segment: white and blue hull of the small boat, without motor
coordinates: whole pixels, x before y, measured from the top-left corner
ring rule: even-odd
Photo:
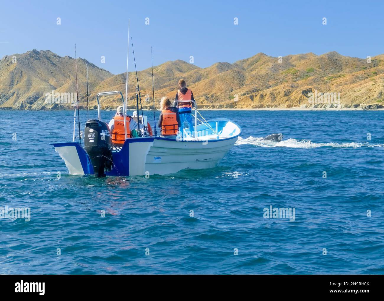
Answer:
[[[121,150],[113,151],[113,169],[108,176],[167,175],[183,169],[214,168],[241,134],[225,118],[197,126],[199,141],[177,141],[162,137],[129,138]],[[219,133],[216,135],[215,133]],[[93,174],[91,160],[79,142],[51,143],[71,175]]]

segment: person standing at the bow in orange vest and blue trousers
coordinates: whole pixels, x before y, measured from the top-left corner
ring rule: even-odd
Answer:
[[[177,100],[185,100],[185,102],[179,102],[177,103],[177,108],[179,108],[179,114],[180,114],[180,132],[183,133],[184,129],[184,121],[187,121],[189,126],[190,135],[192,136],[194,128],[192,123],[192,107],[194,104],[187,100],[193,100],[193,93],[191,89],[188,89],[187,84],[185,83],[185,80],[180,79],[179,80],[179,90],[177,90],[175,101]]]

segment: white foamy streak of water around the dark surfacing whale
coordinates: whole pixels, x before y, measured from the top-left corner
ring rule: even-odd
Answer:
[[[287,140],[282,141],[268,141],[268,140],[262,140],[263,137],[253,137],[249,136],[248,138],[243,139],[242,137],[238,137],[238,140],[236,141],[235,145],[243,145],[243,144],[251,144],[255,146],[260,147],[291,147],[291,148],[316,148],[316,147],[337,147],[337,148],[358,148],[361,146],[367,146],[367,147],[383,147],[384,144],[370,144],[368,142],[344,142],[344,143],[337,143],[337,142],[329,142],[329,143],[314,143],[311,140],[297,140],[294,138],[290,138]]]

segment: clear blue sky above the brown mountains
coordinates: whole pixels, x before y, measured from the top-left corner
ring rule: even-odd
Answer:
[[[0,7],[0,57],[32,49],[74,57],[76,42],[78,57],[114,74],[126,69],[128,18],[138,70],[151,66],[151,45],[154,65],[189,62],[193,55],[199,67],[258,52],[278,57],[334,50],[361,58],[384,53],[383,1],[0,0]]]

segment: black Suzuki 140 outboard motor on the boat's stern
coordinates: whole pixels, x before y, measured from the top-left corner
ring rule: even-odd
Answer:
[[[113,168],[112,136],[109,126],[100,120],[85,123],[84,148],[91,159],[94,176],[101,178]]]

